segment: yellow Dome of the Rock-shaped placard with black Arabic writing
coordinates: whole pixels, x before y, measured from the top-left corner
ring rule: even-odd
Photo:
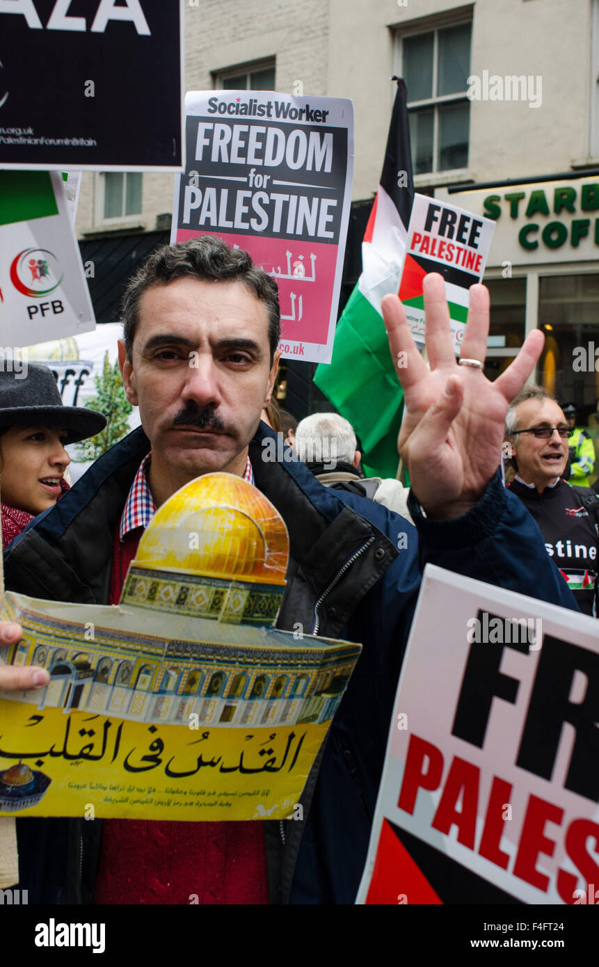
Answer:
[[[205,474],[150,521],[118,605],[8,591],[3,653],[49,681],[0,693],[0,816],[300,818],[361,646],[274,627],[287,561],[266,497]]]

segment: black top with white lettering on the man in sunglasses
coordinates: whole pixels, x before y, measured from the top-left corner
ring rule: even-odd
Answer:
[[[584,506],[583,488],[558,480],[539,493],[534,484],[524,484],[519,477],[508,485],[539,525],[547,553],[568,582],[581,611],[596,614],[599,540],[595,514],[591,510],[589,517]]]

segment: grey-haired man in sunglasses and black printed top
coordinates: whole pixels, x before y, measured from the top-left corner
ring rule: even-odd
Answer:
[[[517,475],[508,484],[534,517],[554,559],[584,614],[597,615],[597,510],[587,487],[562,479],[572,434],[560,406],[540,386],[528,386],[513,400],[506,417],[506,453]],[[585,492],[586,491],[586,492]]]

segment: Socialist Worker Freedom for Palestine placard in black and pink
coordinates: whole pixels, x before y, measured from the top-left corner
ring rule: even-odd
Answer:
[[[329,363],[353,174],[353,109],[258,91],[186,97],[171,242],[205,233],[277,280],[284,357]]]

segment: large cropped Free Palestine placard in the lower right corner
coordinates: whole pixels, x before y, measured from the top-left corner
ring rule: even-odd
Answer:
[[[427,566],[358,902],[586,903],[598,696],[595,619]]]

